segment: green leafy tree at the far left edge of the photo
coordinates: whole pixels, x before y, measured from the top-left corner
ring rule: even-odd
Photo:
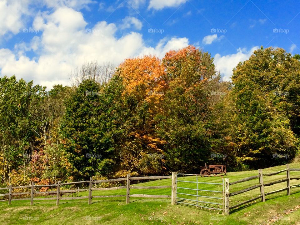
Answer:
[[[45,87],[23,79],[17,81],[15,76],[0,78],[0,148],[2,181],[10,182],[11,172],[23,164],[23,154],[30,148],[34,134],[30,131],[29,107],[36,93],[43,92]],[[7,180],[8,178],[8,180]],[[25,171],[24,171],[25,179]]]

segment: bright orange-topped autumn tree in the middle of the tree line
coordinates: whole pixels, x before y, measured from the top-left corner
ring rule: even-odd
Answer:
[[[123,78],[123,98],[132,110],[121,166],[128,172],[136,169],[143,174],[159,173],[164,168],[163,152],[159,147],[163,141],[153,136],[153,118],[161,111],[160,102],[166,88],[165,68],[159,58],[144,56],[126,59],[117,73]]]

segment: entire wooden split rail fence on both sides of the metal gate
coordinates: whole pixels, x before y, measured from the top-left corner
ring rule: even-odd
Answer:
[[[229,212],[231,209],[237,208],[239,206],[242,206],[244,204],[247,204],[249,202],[253,202],[257,199],[261,199],[262,202],[266,201],[265,196],[274,194],[277,192],[282,192],[282,191],[287,191],[287,195],[291,195],[291,188],[294,187],[300,187],[300,184],[297,185],[291,185],[290,181],[291,180],[300,180],[300,178],[291,178],[290,177],[290,172],[291,171],[300,171],[300,169],[296,168],[289,168],[289,165],[287,165],[286,169],[280,170],[278,172],[274,173],[263,173],[262,169],[258,169],[258,175],[243,178],[238,181],[234,182],[229,182],[229,178],[225,178],[225,182],[223,185],[223,198],[224,198],[224,207],[223,211],[226,215],[229,215]],[[286,172],[286,178],[276,180],[273,182],[269,183],[264,183],[263,182],[263,177],[266,176],[273,176],[277,175],[280,173]],[[130,184],[131,181],[133,180],[151,180],[151,179],[170,179],[172,178],[172,183],[171,185],[167,186],[150,186],[150,187],[145,187],[145,186],[132,186]],[[258,178],[258,184],[253,185],[252,187],[247,187],[242,190],[238,190],[235,192],[230,192],[230,187],[232,185],[238,184],[238,183],[243,183],[246,181],[250,181],[253,179]],[[120,186],[120,187],[107,187],[107,188],[93,188],[93,184],[97,183],[108,183],[108,182],[119,182],[119,181],[126,181],[126,186]],[[275,191],[271,192],[265,192],[264,187],[272,186],[277,183],[283,183],[286,182],[286,187],[280,188]],[[60,187],[64,185],[79,185],[83,183],[88,183],[89,188],[86,189],[75,189],[75,190],[60,190]],[[197,182],[199,183],[199,182]],[[56,187],[56,191],[35,191],[36,187]],[[12,190],[18,189],[18,188],[31,188],[31,191],[29,192],[13,192]],[[157,189],[157,188],[171,188],[171,196],[169,195],[149,195],[149,194],[130,194],[130,189]],[[239,195],[254,189],[260,189],[259,195],[255,196],[247,201],[240,202],[236,205],[230,206],[229,200],[230,197]],[[118,189],[126,189],[126,195],[98,195],[98,196],[93,196],[92,193],[93,191],[106,191],[106,190],[118,190]],[[1,200],[1,201],[8,201],[8,204],[11,204],[11,201],[17,201],[17,200],[30,200],[30,205],[33,205],[34,200],[56,200],[56,205],[59,205],[60,200],[73,200],[73,199],[86,199],[88,198],[88,204],[92,204],[92,199],[93,198],[103,198],[103,197],[126,197],[126,203],[128,204],[130,202],[130,197],[147,197],[147,198],[171,198],[171,204],[175,205],[177,204],[177,172],[173,172],[172,176],[152,176],[152,177],[130,177],[130,174],[127,175],[127,178],[117,178],[117,179],[109,179],[109,180],[93,180],[90,178],[89,181],[78,181],[78,182],[71,182],[71,183],[61,183],[58,181],[57,184],[48,184],[48,185],[35,185],[33,182],[31,185],[28,186],[18,186],[18,187],[13,187],[12,185],[9,185],[9,187],[1,187],[0,190],[9,190],[8,193],[0,194],[0,196],[8,196],[8,199],[6,200]],[[64,194],[70,194],[74,192],[84,192],[88,191],[88,196],[80,196],[80,197],[62,197]],[[197,190],[198,191],[198,190]],[[47,194],[47,195],[54,195],[56,197],[49,197],[49,198],[41,198],[41,197],[35,197],[35,194]],[[16,195],[30,195],[30,198],[13,198],[13,196]]]

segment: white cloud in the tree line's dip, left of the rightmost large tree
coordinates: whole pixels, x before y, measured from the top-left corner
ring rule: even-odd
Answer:
[[[225,56],[221,56],[217,53],[214,56],[216,70],[220,71],[224,80],[230,80],[232,69],[236,67],[239,62],[247,60],[257,48],[258,46],[252,47],[249,51],[239,48],[237,53]]]

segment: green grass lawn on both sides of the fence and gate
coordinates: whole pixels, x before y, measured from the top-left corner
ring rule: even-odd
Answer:
[[[300,163],[293,163],[291,168],[300,168]],[[282,170],[286,166],[278,166],[263,169],[263,173],[271,173]],[[230,182],[257,175],[257,171],[245,171],[227,173],[224,178]],[[300,172],[291,172],[291,177],[300,177]],[[286,178],[286,172],[263,177],[264,183]],[[178,180],[195,181],[196,177],[180,177]],[[198,177],[199,182],[222,183],[220,177]],[[300,181],[292,180],[291,185]],[[230,186],[230,192],[241,190],[258,184],[258,178],[240,184]],[[171,179],[151,181],[135,184],[136,186],[160,186],[171,185]],[[195,183],[178,182],[178,187],[196,188]],[[286,187],[286,183],[279,183],[265,187],[265,192]],[[198,184],[198,189],[222,191],[222,186]],[[179,189],[178,189],[179,191]],[[182,193],[195,194],[196,191],[180,189]],[[171,195],[171,188],[165,189],[131,189],[131,194],[155,194]],[[222,211],[201,209],[199,207],[183,204],[171,205],[171,199],[149,199],[131,197],[130,204],[126,204],[125,197],[117,198],[93,198],[93,204],[88,205],[88,199],[81,200],[44,200],[0,202],[0,224],[299,224],[300,225],[300,188],[292,188],[291,196],[286,191],[266,196],[266,202],[248,203],[230,211],[229,216],[222,215]],[[126,194],[126,189],[112,191],[93,191],[93,195],[121,195]],[[199,195],[222,197],[221,193],[198,192]],[[79,196],[88,195],[88,192],[79,192]],[[230,198],[230,205],[243,202],[255,196],[259,196],[259,188],[245,192]],[[178,195],[183,197],[185,195]],[[65,197],[65,196],[64,196]],[[183,197],[186,198],[186,197]],[[195,197],[189,196],[189,199]],[[198,198],[200,201],[222,203],[219,199]],[[188,202],[188,201],[185,201]],[[199,203],[200,204],[200,203]],[[207,207],[220,207],[209,203],[201,203]]]

